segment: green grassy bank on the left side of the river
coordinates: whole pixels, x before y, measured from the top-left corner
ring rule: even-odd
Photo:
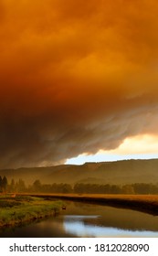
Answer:
[[[42,197],[0,196],[0,227],[20,225],[56,215],[61,205],[61,201]]]

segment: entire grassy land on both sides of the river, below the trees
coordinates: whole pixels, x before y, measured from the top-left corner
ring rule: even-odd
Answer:
[[[158,215],[156,195],[98,195],[98,194],[6,194],[0,195],[0,228],[19,226],[32,221],[56,216],[67,200],[129,208]]]

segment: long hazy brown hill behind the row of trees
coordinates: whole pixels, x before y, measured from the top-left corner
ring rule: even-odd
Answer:
[[[5,169],[0,170],[0,176],[7,176],[9,181],[22,178],[26,184],[32,184],[36,179],[43,184],[158,184],[158,159]]]

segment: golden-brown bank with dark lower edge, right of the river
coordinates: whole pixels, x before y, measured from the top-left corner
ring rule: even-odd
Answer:
[[[117,208],[131,208],[154,216],[158,215],[158,195],[29,194],[29,196],[73,200]]]

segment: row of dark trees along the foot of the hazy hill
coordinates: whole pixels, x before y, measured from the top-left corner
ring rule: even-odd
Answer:
[[[0,176],[0,191],[8,193],[77,193],[77,194],[158,194],[158,185],[146,183],[134,183],[131,185],[99,185],[77,183],[73,187],[69,184],[42,184],[36,180],[32,185],[26,186],[25,181],[19,179],[15,182],[11,180],[10,184],[6,177]]]

